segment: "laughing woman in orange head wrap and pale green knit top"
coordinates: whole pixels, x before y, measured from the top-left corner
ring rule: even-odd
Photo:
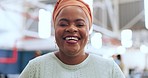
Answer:
[[[92,14],[82,0],[59,0],[53,25],[59,51],[31,60],[19,78],[124,78],[112,60],[84,52]]]

